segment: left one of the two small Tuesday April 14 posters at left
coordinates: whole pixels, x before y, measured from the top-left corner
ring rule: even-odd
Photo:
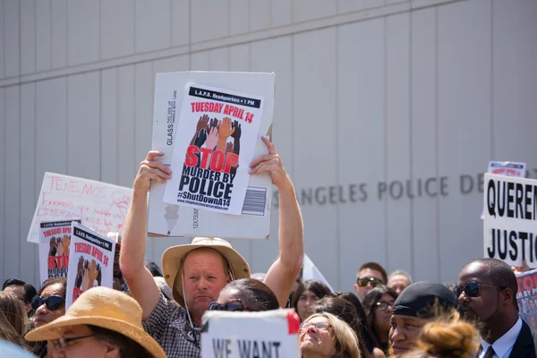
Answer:
[[[52,277],[67,277],[71,222],[81,220],[41,221],[39,224],[39,273],[41,282]]]

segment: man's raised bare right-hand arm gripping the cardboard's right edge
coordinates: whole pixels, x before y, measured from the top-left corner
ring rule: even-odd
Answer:
[[[279,191],[279,257],[268,269],[265,284],[274,291],[281,307],[287,299],[303,263],[303,220],[293,182],[286,174],[274,145],[266,138],[268,155],[251,163],[251,174],[269,173]]]

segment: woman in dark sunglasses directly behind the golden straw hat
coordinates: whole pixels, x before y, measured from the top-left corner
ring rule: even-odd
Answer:
[[[57,320],[65,314],[66,288],[65,277],[49,278],[43,283],[38,295],[31,300],[31,308],[36,312],[33,322],[35,328]],[[39,358],[51,357],[52,353],[47,354],[47,348],[47,341],[38,341],[32,347],[32,352]]]

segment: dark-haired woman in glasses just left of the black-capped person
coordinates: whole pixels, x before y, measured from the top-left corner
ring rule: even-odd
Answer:
[[[390,319],[396,299],[396,291],[381,285],[373,288],[362,301],[371,333],[384,354],[388,354]]]

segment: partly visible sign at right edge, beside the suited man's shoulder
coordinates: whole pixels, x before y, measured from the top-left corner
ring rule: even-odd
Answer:
[[[537,269],[516,275],[516,303],[520,317],[537,328]]]

